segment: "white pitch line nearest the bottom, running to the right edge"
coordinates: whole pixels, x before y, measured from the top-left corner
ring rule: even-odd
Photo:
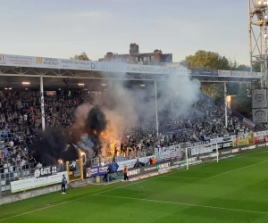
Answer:
[[[200,208],[207,208],[207,209],[225,210],[225,211],[240,211],[240,212],[257,213],[257,214],[268,214],[268,212],[263,212],[263,211],[248,211],[248,210],[242,210],[242,209],[230,209],[230,208],[214,207],[214,206],[200,205],[200,204],[186,203],[186,202],[166,202],[166,201],[153,200],[153,199],[134,198],[134,197],[125,197],[125,196],[113,196],[113,195],[97,195],[97,196],[113,197],[113,198],[121,198],[121,199],[131,199],[131,200],[143,201],[143,202],[163,202],[163,203],[171,203],[171,204],[193,206],[193,207],[200,207]]]

